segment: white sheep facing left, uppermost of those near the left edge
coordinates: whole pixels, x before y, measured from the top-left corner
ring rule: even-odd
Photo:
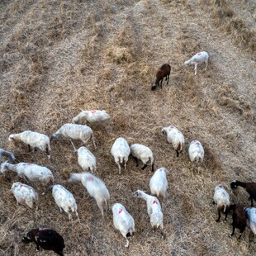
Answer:
[[[9,140],[21,140],[28,145],[28,149],[40,149],[45,151],[50,159],[50,138],[36,131],[25,130],[21,133],[9,135]]]

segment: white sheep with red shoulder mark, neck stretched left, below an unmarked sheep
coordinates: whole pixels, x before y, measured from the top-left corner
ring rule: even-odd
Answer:
[[[140,197],[147,202],[147,210],[152,228],[155,230],[160,227],[163,230],[163,212],[157,197],[150,196],[141,190],[133,192],[132,197]]]

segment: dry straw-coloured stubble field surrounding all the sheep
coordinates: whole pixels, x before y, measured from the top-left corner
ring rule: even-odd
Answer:
[[[40,195],[39,210],[17,206],[12,183],[26,181],[14,173],[0,178],[0,254],[36,253],[21,237],[35,227],[50,227],[64,236],[64,255],[254,255],[256,238],[246,228],[233,239],[231,215],[216,224],[214,187],[221,183],[231,202],[249,206],[243,188],[230,190],[234,179],[256,181],[256,4],[253,0],[3,0],[1,7],[0,147],[18,162],[45,165],[55,183],[73,192],[81,224],[69,222],[51,195]],[[193,76],[184,61],[206,50],[210,64]],[[150,91],[156,70],[170,62],[170,83]],[[123,203],[135,218],[135,236],[125,239],[104,224],[95,201],[81,183],[68,183],[81,172],[69,140],[51,142],[52,159],[7,137],[23,130],[52,135],[81,110],[105,109],[111,129],[92,127],[97,149],[97,176],[111,193],[111,204]],[[186,148],[179,158],[163,126],[183,132]],[[130,159],[118,175],[111,145],[123,136],[148,145],[156,168],[168,168],[164,234],[153,232],[145,201],[131,192],[149,192],[149,168]],[[187,148],[198,139],[206,150],[201,168],[190,164]],[[82,143],[75,141],[77,147]]]

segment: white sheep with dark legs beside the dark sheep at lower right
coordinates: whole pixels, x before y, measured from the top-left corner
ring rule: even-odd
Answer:
[[[215,187],[213,203],[216,203],[217,211],[218,211],[218,219],[216,220],[216,222],[220,221],[220,211],[223,211],[225,213],[225,221],[226,221],[226,218],[228,216],[228,211],[230,210],[230,196],[228,192],[225,191],[224,186],[217,185]]]

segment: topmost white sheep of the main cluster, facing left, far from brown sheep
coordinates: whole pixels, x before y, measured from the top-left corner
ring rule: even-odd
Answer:
[[[110,116],[105,110],[81,111],[78,116],[73,117],[74,124],[88,121],[91,125],[106,126]]]

